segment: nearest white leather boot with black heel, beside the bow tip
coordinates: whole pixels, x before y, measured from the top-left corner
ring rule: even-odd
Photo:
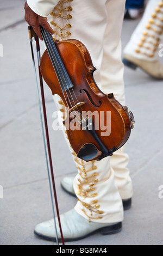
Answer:
[[[74,209],[60,215],[62,233],[64,241],[76,241],[86,236],[92,235],[99,230],[103,235],[111,235],[121,231],[122,222],[118,223],[97,223],[89,222],[80,216]],[[61,242],[61,234],[59,229],[58,218],[56,218],[58,241]],[[54,220],[42,222],[36,225],[34,230],[36,235],[40,237],[56,241],[56,233],[54,228]]]

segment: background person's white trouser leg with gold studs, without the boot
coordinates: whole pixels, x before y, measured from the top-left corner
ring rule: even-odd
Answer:
[[[124,54],[148,61],[158,60],[162,32],[163,0],[149,0],[139,25],[124,48]]]

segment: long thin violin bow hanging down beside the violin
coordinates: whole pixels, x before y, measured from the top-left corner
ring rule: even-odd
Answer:
[[[59,223],[59,229],[60,229],[60,234],[61,234],[62,245],[65,245],[64,237],[63,237],[62,229],[61,229],[61,222],[60,222],[60,215],[59,215],[57,193],[56,193],[55,181],[54,181],[51,145],[50,145],[50,142],[49,142],[49,132],[48,132],[48,124],[47,124],[46,105],[45,105],[45,95],[44,95],[44,90],[43,90],[43,79],[42,79],[42,75],[41,75],[41,71],[40,71],[40,59],[41,59],[41,57],[40,57],[39,38],[35,34],[35,32],[34,32],[34,30],[33,30],[33,28],[31,26],[28,27],[28,32],[29,32],[30,48],[31,48],[32,60],[33,60],[33,68],[34,68],[34,74],[35,74],[35,82],[36,82],[36,87],[37,87],[37,98],[38,98],[38,104],[39,104],[41,129],[42,129],[43,145],[44,145],[44,149],[45,149],[45,157],[46,157],[46,164],[47,164],[49,188],[50,188],[50,192],[51,192],[52,209],[53,209],[53,217],[54,217],[54,225],[55,225],[55,233],[56,233],[56,242],[57,242],[57,245],[59,245],[57,225],[56,225],[56,221],[55,221],[54,202],[55,202],[55,208],[56,208],[56,211],[57,211],[57,217],[58,217],[58,223]],[[37,82],[35,58],[34,58],[34,51],[33,51],[33,38],[36,41],[36,51],[37,51],[37,62],[38,62],[38,68],[39,68],[39,79],[40,79],[40,90],[41,90],[41,99],[42,99],[43,118],[42,118],[41,103],[40,103],[40,93],[39,93],[39,86],[38,86],[38,82]],[[43,119],[44,119],[44,126],[45,126],[45,128],[43,126]],[[45,131],[44,131],[44,129],[45,129]],[[45,132],[46,132],[46,136],[45,136]],[[48,153],[47,153],[47,149],[46,148],[48,149]],[[49,159],[49,164],[48,164],[48,159]],[[50,172],[49,172],[49,166],[50,166],[50,169],[51,169],[51,175],[50,175]],[[52,179],[52,185],[53,185],[53,192],[52,192],[52,186],[51,186],[51,179]],[[54,196],[54,202],[53,202],[53,196]]]

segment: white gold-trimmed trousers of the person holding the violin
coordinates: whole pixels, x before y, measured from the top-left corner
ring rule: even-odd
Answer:
[[[121,61],[124,8],[124,0],[65,0],[60,1],[48,16],[48,21],[55,31],[55,38],[74,38],[83,42],[97,69],[94,77],[98,87],[104,93],[114,93],[122,105],[125,105]],[[71,15],[72,19],[68,19],[70,16],[67,15]],[[59,16],[62,16],[62,19]],[[61,123],[64,118],[64,105],[57,95],[54,100],[58,109],[62,109],[59,111]],[[66,137],[65,132],[64,134]],[[68,141],[67,143],[70,145]],[[122,221],[122,199],[133,196],[127,168],[128,155],[124,154],[124,147],[112,157],[88,163],[78,159],[71,147],[70,150],[78,169],[74,180],[74,191],[78,197],[75,210],[89,221]]]

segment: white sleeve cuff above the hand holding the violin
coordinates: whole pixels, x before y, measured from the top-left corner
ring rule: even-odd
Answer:
[[[27,0],[30,9],[42,17],[47,17],[58,2],[59,0]]]

